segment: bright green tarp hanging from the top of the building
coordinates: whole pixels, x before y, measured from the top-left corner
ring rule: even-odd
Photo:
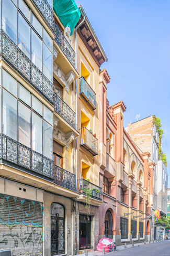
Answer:
[[[61,20],[64,27],[69,26],[71,34],[81,17],[81,12],[78,9],[74,0],[53,0],[53,9],[56,15]]]

